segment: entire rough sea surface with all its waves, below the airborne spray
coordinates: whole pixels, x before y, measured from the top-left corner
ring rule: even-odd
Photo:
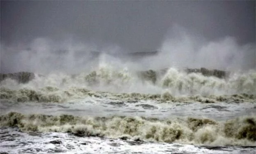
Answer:
[[[1,74],[0,154],[255,154],[256,71]]]

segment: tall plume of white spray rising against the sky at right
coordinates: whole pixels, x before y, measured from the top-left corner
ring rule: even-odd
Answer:
[[[164,53],[164,61],[169,60],[178,67],[231,71],[255,68],[255,44],[238,45],[236,39],[229,36],[209,42],[178,25],[171,29],[160,51]]]

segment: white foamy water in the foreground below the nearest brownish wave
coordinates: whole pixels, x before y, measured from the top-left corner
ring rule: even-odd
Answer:
[[[77,137],[66,133],[28,134],[0,129],[0,152],[9,154],[254,154],[253,146],[194,146],[170,143]]]

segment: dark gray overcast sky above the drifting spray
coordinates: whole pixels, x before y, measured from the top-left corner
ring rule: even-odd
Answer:
[[[37,37],[115,43],[134,50],[159,47],[172,24],[214,40],[255,42],[255,1],[4,1],[1,42]]]

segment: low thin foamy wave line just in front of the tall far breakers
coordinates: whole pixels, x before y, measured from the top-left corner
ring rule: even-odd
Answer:
[[[169,92],[163,94],[141,94],[141,93],[111,93],[95,92],[88,89],[71,87],[69,89],[58,89],[56,87],[44,87],[42,89],[0,89],[0,99],[14,102],[65,102],[72,99],[85,97],[108,98],[113,100],[155,100],[159,102],[255,102],[256,95],[253,94],[233,94],[233,95],[210,95],[210,96],[172,96]]]

